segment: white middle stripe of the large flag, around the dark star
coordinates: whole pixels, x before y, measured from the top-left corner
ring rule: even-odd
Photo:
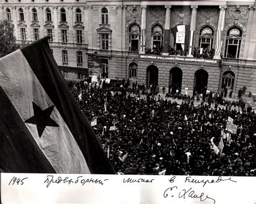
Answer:
[[[34,115],[32,102],[42,110],[54,105],[20,50],[6,56],[1,62],[1,66],[8,67],[8,70],[1,69],[0,86],[23,121]],[[90,173],[75,138],[56,107],[50,117],[59,127],[46,126],[41,138],[35,124],[25,123],[45,157],[57,173]]]

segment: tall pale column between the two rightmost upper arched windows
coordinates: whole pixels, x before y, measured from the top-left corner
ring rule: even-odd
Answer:
[[[215,55],[213,59],[220,59],[221,48],[223,46],[222,34],[224,30],[226,6],[219,6],[219,8],[220,8],[220,15],[219,15],[218,31],[217,31],[217,38],[216,38],[216,45],[215,45]]]

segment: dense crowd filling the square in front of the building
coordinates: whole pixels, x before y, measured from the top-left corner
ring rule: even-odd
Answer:
[[[92,128],[118,174],[256,173],[254,110],[243,105],[239,111],[243,102],[225,101],[214,93],[201,98],[167,90],[160,97],[125,79],[69,87],[89,121],[97,117]],[[237,125],[236,133],[226,129],[228,116]],[[221,140],[223,149],[217,153]]]

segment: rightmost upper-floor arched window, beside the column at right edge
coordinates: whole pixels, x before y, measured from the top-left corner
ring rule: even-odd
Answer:
[[[239,58],[242,31],[239,27],[232,27],[227,31],[225,57]]]

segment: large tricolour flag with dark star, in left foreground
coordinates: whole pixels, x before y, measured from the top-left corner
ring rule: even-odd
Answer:
[[[45,37],[0,59],[0,166],[21,173],[115,173]]]

